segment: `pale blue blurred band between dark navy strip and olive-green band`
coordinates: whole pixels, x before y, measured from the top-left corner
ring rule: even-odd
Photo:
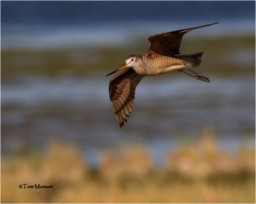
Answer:
[[[217,20],[217,19],[216,19]],[[215,22],[216,22],[215,20]],[[56,47],[93,47],[93,46],[116,46],[123,47],[136,42],[138,39],[145,39],[157,33],[163,33],[186,27],[193,27],[209,24],[213,21],[190,22],[180,24],[180,22],[132,22],[131,27],[113,22],[108,28],[99,25],[86,25],[86,27],[45,27],[22,26],[13,28],[6,26],[2,32],[2,47],[7,48],[56,48]],[[237,29],[237,24],[240,29]],[[198,36],[208,36],[208,38],[218,38],[223,36],[236,36],[244,33],[253,34],[255,22],[224,21],[216,25],[214,29],[202,29],[200,32],[191,33],[188,38]],[[135,32],[136,31],[136,32]],[[19,33],[19,34],[18,34]],[[146,38],[145,38],[146,36]]]

